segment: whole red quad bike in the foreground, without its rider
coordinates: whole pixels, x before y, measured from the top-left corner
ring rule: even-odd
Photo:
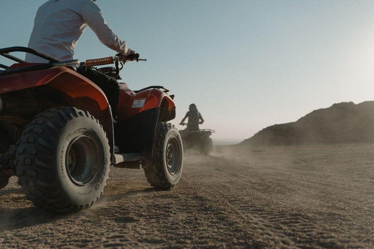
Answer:
[[[11,52],[50,62],[26,63]],[[143,168],[158,189],[178,183],[183,146],[177,129],[167,123],[175,118],[168,89],[132,91],[123,83],[113,125],[104,92],[70,67],[79,60],[59,61],[24,47],[0,49],[0,55],[18,62],[0,64],[0,153],[5,153],[0,155],[0,188],[9,175],[17,176],[35,206],[72,213],[91,207],[101,196],[110,165]],[[97,70],[119,78],[121,59],[117,54],[80,64],[114,63],[115,68]]]

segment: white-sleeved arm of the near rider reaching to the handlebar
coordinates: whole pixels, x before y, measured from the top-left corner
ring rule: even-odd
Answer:
[[[115,35],[108,26],[101,9],[96,3],[87,1],[82,10],[81,17],[105,46],[125,55],[131,53],[131,49],[127,46],[126,42]]]

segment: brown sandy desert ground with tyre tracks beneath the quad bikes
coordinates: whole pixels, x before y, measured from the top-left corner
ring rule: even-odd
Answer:
[[[37,210],[16,178],[0,191],[1,248],[373,248],[374,145],[187,151],[183,177],[154,191],[111,169],[93,208]]]

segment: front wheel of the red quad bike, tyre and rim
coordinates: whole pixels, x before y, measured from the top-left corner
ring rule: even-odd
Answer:
[[[156,189],[170,189],[179,182],[182,169],[181,135],[170,123],[157,124],[153,142],[153,162],[144,169],[148,182]]]

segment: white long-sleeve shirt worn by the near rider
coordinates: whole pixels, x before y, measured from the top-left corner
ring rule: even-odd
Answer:
[[[49,0],[39,7],[29,48],[59,60],[72,60],[80,36],[90,27],[108,48],[128,55],[126,42],[114,34],[93,0]],[[27,62],[48,62],[27,53]]]

